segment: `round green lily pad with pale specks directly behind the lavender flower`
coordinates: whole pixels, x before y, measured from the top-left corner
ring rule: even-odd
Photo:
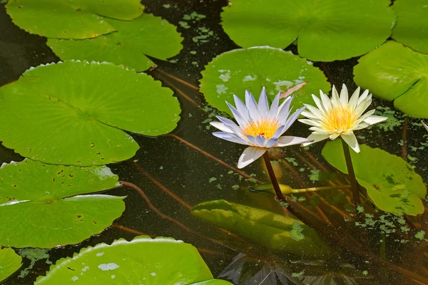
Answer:
[[[258,98],[262,86],[266,86],[267,97],[273,100],[278,91],[306,81],[305,86],[293,93],[294,108],[312,103],[311,94],[319,94],[320,89],[325,93],[330,90],[327,78],[312,63],[280,48],[268,46],[222,53],[205,66],[202,75],[200,92],[210,105],[230,115],[225,100],[233,103],[233,94],[244,100],[246,89]]]

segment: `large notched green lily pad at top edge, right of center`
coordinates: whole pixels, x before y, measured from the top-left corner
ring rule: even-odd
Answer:
[[[388,0],[231,0],[223,28],[239,46],[285,48],[297,38],[311,61],[360,56],[391,35],[395,16]],[[373,27],[376,28],[373,28]]]

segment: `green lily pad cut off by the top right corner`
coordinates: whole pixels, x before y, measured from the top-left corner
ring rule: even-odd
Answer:
[[[396,0],[392,6],[397,24],[392,38],[421,53],[428,53],[428,3],[425,0]]]

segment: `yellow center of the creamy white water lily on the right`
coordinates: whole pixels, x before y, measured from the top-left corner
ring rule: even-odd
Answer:
[[[332,133],[345,133],[354,127],[357,119],[350,105],[340,105],[333,107],[322,118],[322,128]]]

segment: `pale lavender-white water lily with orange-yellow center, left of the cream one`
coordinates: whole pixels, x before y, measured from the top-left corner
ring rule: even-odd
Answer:
[[[309,142],[307,138],[281,136],[295,122],[305,107],[300,108],[290,115],[290,103],[292,97],[279,105],[280,93],[275,96],[269,108],[266,90],[263,87],[259,102],[255,101],[253,94],[245,91],[245,104],[238,96],[233,95],[236,108],[228,104],[238,125],[232,120],[217,116],[220,122],[211,122],[213,127],[221,132],[215,132],[217,138],[236,142],[247,147],[238,160],[238,168],[243,168],[261,157],[269,147],[286,147]],[[278,106],[279,105],[279,106]],[[288,117],[290,115],[290,118]]]

